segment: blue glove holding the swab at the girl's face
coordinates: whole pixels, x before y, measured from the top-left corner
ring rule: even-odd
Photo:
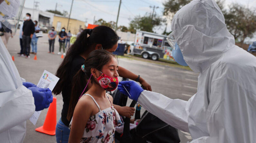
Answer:
[[[125,90],[125,88],[123,87],[123,85],[125,86],[126,90],[130,93],[130,95],[127,93],[127,91]],[[135,81],[122,81],[119,82],[118,84],[118,90],[120,92],[122,92],[123,94],[127,95],[130,99],[133,100],[138,100],[139,95],[142,91],[144,91],[144,89],[142,89],[138,83],[136,83]]]

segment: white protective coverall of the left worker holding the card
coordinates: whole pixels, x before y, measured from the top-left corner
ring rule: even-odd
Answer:
[[[22,85],[11,55],[0,37],[0,142],[22,143],[26,120],[35,111],[32,91]]]

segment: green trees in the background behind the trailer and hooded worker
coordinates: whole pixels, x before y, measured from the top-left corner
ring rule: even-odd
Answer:
[[[164,5],[163,18],[160,15],[146,13],[144,16],[136,16],[130,20],[129,26],[119,26],[118,30],[123,32],[130,31],[136,33],[136,30],[154,32],[153,28],[156,26],[166,26],[166,19],[172,19],[174,14],[181,9],[184,5],[188,4],[192,0],[167,0]],[[216,0],[221,11],[223,12],[226,26],[229,32],[234,36],[236,42],[243,43],[246,37],[252,37],[256,31],[256,9],[248,8],[244,5],[232,3],[228,6],[228,9],[224,9],[225,0]],[[106,22],[103,19],[96,20],[95,24],[105,25],[110,28],[115,28],[115,22]],[[162,33],[168,35],[171,31],[165,31]]]

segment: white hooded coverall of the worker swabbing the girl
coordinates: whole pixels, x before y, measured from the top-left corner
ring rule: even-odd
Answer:
[[[256,142],[256,58],[235,45],[214,0],[193,0],[172,20],[188,66],[199,72],[197,93],[188,101],[141,92],[138,102],[191,143]]]

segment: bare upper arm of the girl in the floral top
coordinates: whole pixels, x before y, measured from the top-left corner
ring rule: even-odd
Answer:
[[[80,143],[85,126],[92,114],[92,108],[94,107],[91,100],[82,97],[74,110],[71,131],[69,136],[69,143]],[[85,110],[86,109],[86,110]]]

